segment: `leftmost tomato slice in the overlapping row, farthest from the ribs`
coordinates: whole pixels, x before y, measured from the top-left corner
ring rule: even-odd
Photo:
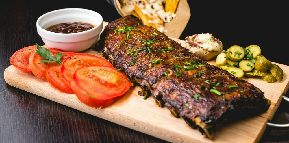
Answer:
[[[29,67],[29,56],[36,51],[36,46],[24,47],[16,51],[9,59],[10,64],[19,70],[32,73]]]

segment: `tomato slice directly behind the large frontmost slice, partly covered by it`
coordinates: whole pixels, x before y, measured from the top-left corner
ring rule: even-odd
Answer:
[[[59,78],[66,86],[71,87],[74,71],[78,68],[92,65],[113,67],[113,65],[103,57],[87,53],[76,53],[70,55],[62,62]]]

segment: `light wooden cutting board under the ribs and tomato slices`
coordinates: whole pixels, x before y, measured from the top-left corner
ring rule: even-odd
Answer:
[[[107,24],[104,22],[103,27]],[[172,39],[183,46],[183,40]],[[102,57],[101,51],[95,51],[91,48],[83,53]],[[207,62],[211,65],[215,64],[215,60]],[[39,79],[31,73],[20,71],[12,65],[5,69],[4,79],[6,83],[16,88],[169,142],[251,143],[259,142],[266,129],[266,122],[272,119],[281,102],[281,97],[288,91],[289,66],[272,63],[283,69],[283,81],[266,83],[258,77],[243,78],[260,88],[265,93],[264,96],[271,100],[269,110],[260,115],[217,128],[213,140],[201,135],[199,130],[189,127],[182,118],[175,118],[166,107],[161,108],[156,105],[152,97],[144,100],[142,96],[138,95],[139,86],[131,87],[124,96],[116,100],[111,106],[95,109],[81,103],[75,94],[60,92],[46,80]]]

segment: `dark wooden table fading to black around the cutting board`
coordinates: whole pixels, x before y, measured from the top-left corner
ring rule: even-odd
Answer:
[[[188,3],[191,18],[180,39],[208,32],[223,42],[225,50],[231,45],[246,47],[256,44],[270,61],[288,65],[286,4],[245,1]],[[94,10],[108,22],[121,17],[105,0],[1,2],[0,142],[166,142],[6,84],[3,72],[10,66],[10,56],[36,42],[44,44],[36,31],[37,18],[61,8]],[[281,102],[272,122],[288,123],[288,111],[289,104]],[[267,128],[260,142],[289,142],[289,130]]]

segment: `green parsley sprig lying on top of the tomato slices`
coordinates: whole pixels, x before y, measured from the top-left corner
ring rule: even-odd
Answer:
[[[45,47],[39,46],[36,43],[36,53],[38,53],[38,55],[40,55],[41,57],[45,58],[45,60],[42,60],[39,64],[47,62],[47,63],[58,63],[58,64],[62,64],[60,62],[60,58],[66,55],[62,55],[62,53],[57,52],[57,54],[55,55],[56,59],[51,55],[50,50],[49,49],[45,49]]]

